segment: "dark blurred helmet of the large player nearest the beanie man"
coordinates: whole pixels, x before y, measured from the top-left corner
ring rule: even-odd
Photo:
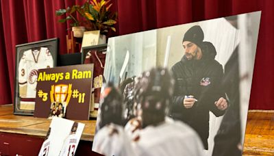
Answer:
[[[143,111],[164,113],[173,96],[174,79],[166,68],[142,73],[134,89],[135,101]],[[139,106],[138,106],[139,107]]]

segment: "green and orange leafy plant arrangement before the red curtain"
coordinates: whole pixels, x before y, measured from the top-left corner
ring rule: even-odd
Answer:
[[[71,27],[84,26],[86,30],[100,30],[101,34],[108,34],[108,31],[116,31],[114,25],[117,23],[117,12],[110,12],[112,3],[110,0],[92,0],[86,1],[84,5],[73,5],[71,8],[56,10],[55,15],[62,16],[67,14],[66,18],[59,20],[64,23],[72,20]],[[77,19],[76,13],[80,14],[83,19]]]

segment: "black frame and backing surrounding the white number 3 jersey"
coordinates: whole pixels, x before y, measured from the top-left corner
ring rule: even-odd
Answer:
[[[53,67],[57,65],[57,55],[58,55],[58,38],[51,38],[48,40],[40,40],[38,42],[29,42],[25,44],[16,45],[16,62],[15,62],[15,77],[14,77],[14,114],[16,115],[34,115],[34,109],[20,109],[21,97],[19,95],[19,84],[18,84],[18,66],[23,57],[23,53],[29,49],[47,47],[53,58]],[[28,74],[28,73],[27,73]],[[33,101],[27,101],[33,102]],[[35,106],[34,106],[35,107]]]

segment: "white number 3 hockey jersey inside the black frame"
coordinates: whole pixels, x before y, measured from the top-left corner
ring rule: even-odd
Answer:
[[[53,57],[47,47],[40,47],[38,50],[29,49],[23,53],[18,65],[18,83],[21,98],[32,99],[36,97],[36,85],[38,69],[52,68]]]

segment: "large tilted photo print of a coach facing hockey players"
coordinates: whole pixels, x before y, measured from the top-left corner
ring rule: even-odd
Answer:
[[[109,38],[103,155],[242,155],[260,12]]]

